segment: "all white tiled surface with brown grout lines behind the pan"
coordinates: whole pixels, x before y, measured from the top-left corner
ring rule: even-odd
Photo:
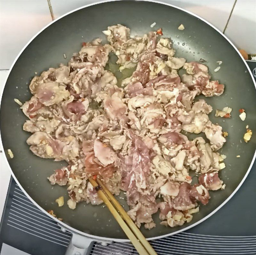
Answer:
[[[55,18],[95,0],[51,0]],[[224,30],[235,0],[163,0],[203,17]],[[47,0],[0,0],[0,90],[7,71],[26,43],[52,21]],[[240,49],[256,53],[256,0],[237,0],[225,33]],[[0,154],[0,217],[10,180]]]

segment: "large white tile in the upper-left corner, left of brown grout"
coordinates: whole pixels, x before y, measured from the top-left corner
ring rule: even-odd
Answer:
[[[26,43],[52,21],[47,0],[0,0],[0,69],[9,69]]]

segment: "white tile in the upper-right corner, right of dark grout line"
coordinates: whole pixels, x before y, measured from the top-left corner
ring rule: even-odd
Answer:
[[[225,34],[236,47],[256,53],[256,0],[237,0]]]

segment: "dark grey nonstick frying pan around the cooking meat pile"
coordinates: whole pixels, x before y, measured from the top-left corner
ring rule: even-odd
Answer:
[[[79,51],[81,42],[104,38],[101,31],[107,26],[120,23],[131,28],[133,35],[142,35],[152,30],[150,25],[153,22],[156,22],[154,29],[162,27],[164,37],[171,38],[176,56],[184,57],[188,62],[204,59],[212,79],[225,84],[225,92],[221,96],[202,98],[214,110],[229,106],[233,111],[232,117],[225,120],[215,118],[214,113],[210,115],[213,123],[219,123],[228,132],[227,143],[220,151],[227,156],[226,168],[220,171],[220,177],[226,183],[225,190],[211,192],[207,206],[200,206],[200,212],[193,215],[190,223],[166,228],[159,224],[156,214],[156,228],[146,230],[142,227],[142,233],[151,240],[173,235],[204,221],[234,195],[255,158],[256,136],[253,135],[248,143],[243,140],[246,125],[255,132],[255,83],[240,53],[220,31],[188,11],[154,1],[101,2],[72,11],[40,31],[16,58],[2,94],[0,130],[6,160],[20,188],[45,213],[53,210],[63,218],[63,222],[54,220],[74,234],[97,240],[128,241],[106,207],[85,203],[78,204],[75,210],[70,210],[67,205],[58,207],[56,198],[64,195],[65,201],[68,200],[66,187],[51,186],[47,177],[65,163],[41,159],[32,154],[26,144],[30,133],[22,130],[26,116],[13,99],[28,101],[31,97],[28,85],[35,72],[40,74],[50,67],[58,67],[60,63],[67,64],[72,54]],[[185,26],[183,31],[178,30],[181,23]],[[63,53],[67,59],[63,58]],[[218,66],[216,61],[223,62],[218,72],[213,71]],[[240,108],[246,109],[244,122],[239,118]],[[194,137],[191,135],[189,139]],[[7,154],[9,148],[14,154],[13,159]],[[236,158],[236,155],[241,157]],[[124,204],[123,199],[120,201]],[[127,205],[125,209],[128,209]]]

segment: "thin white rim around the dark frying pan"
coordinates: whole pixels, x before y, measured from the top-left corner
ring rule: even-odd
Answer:
[[[32,42],[37,35],[39,35],[41,32],[43,32],[48,26],[51,26],[54,22],[56,22],[57,20],[67,16],[68,14],[71,14],[75,11],[78,11],[78,10],[81,10],[81,9],[84,9],[86,7],[89,7],[89,6],[92,6],[92,5],[96,5],[96,4],[103,4],[103,3],[108,3],[108,2],[120,2],[120,1],[124,1],[124,0],[106,0],[106,1],[99,1],[99,2],[96,2],[96,3],[92,3],[92,4],[86,4],[82,7],[79,7],[79,8],[76,8],[72,11],[69,11],[63,15],[61,15],[59,18],[57,19],[54,19],[52,22],[50,22],[48,25],[44,26],[39,32],[37,32],[29,41],[28,43],[21,49],[20,53],[16,56],[15,60],[13,61],[9,71],[8,71],[8,75],[5,79],[5,83],[4,83],[4,86],[3,86],[3,89],[1,91],[1,94],[0,94],[0,109],[1,109],[1,102],[2,102],[2,97],[3,97],[3,94],[4,94],[4,87],[6,85],[6,82],[7,82],[7,79],[12,71],[12,68],[14,66],[14,64],[17,62],[17,60],[19,59],[20,55],[23,53],[23,51],[28,47],[28,45],[30,44],[30,42]],[[254,84],[254,87],[256,89],[256,82],[253,78],[253,75],[252,75],[252,72],[248,66],[248,64],[246,63],[246,61],[244,60],[243,56],[241,55],[241,53],[238,51],[238,49],[235,47],[235,45],[228,39],[228,37],[223,34],[218,28],[216,28],[215,26],[213,26],[211,23],[209,23],[208,21],[206,21],[205,19],[201,18],[200,16],[196,15],[195,13],[191,12],[191,11],[187,11],[183,8],[180,8],[178,6],[175,6],[173,4],[167,4],[167,3],[163,3],[161,1],[156,1],[156,0],[133,0],[133,1],[140,1],[140,2],[152,2],[152,3],[156,3],[156,4],[163,4],[163,5],[167,5],[167,6],[170,6],[172,8],[176,8],[178,10],[181,10],[181,11],[184,11],[198,19],[200,19],[201,21],[205,22],[207,25],[211,26],[213,29],[215,29],[221,36],[223,36],[228,42],[229,44],[236,50],[236,52],[238,53],[238,55],[241,57],[241,59],[243,60],[247,70],[249,71],[250,75],[251,75],[251,78],[252,78],[252,82]],[[5,162],[7,163],[7,166],[9,168],[9,170],[11,171],[11,174],[12,174],[12,177],[13,179],[15,180],[15,182],[19,185],[20,189],[25,193],[25,195],[28,197],[28,199],[30,199],[30,201],[37,207],[39,208],[42,212],[44,212],[46,215],[48,215],[49,217],[51,217],[54,221],[57,221],[57,223],[64,227],[65,229],[68,229],[71,233],[77,233],[77,234],[80,234],[84,237],[87,237],[87,238],[90,238],[90,239],[93,239],[93,240],[100,240],[100,241],[115,241],[115,242],[130,242],[129,239],[118,239],[118,238],[108,238],[108,237],[102,237],[102,236],[94,236],[94,235],[90,235],[90,234],[87,234],[87,233],[84,233],[80,230],[77,230],[71,226],[68,226],[67,224],[63,223],[62,221],[59,221],[58,219],[54,218],[52,215],[48,214],[41,206],[39,206],[29,195],[28,193],[25,191],[25,189],[23,189],[23,187],[21,186],[21,184],[19,183],[19,181],[17,180],[16,176],[14,175],[14,173],[12,172],[12,169],[9,165],[9,162],[7,160],[7,157],[6,157],[6,154],[4,153],[4,147],[3,147],[3,143],[2,143],[2,137],[1,137],[1,130],[0,130],[0,148],[2,149],[2,152],[4,154],[4,160]],[[206,219],[208,219],[209,217],[211,217],[214,213],[216,213],[222,206],[224,206],[228,201],[229,199],[231,199],[234,194],[239,190],[239,188],[242,186],[242,184],[244,183],[244,180],[246,179],[246,177],[248,176],[250,170],[252,169],[252,165],[255,161],[255,158],[256,158],[256,150],[254,152],[254,155],[252,157],[252,161],[251,161],[251,164],[248,168],[248,170],[246,171],[243,179],[241,180],[241,182],[238,184],[238,186],[236,187],[236,189],[229,195],[229,197],[220,204],[220,206],[218,206],[215,210],[213,210],[210,214],[206,215],[204,218],[202,218],[201,220],[195,222],[194,224],[188,226],[188,227],[185,227],[184,229],[180,229],[180,230],[177,230],[175,232],[172,232],[172,233],[169,233],[169,234],[165,234],[165,235],[161,235],[161,236],[155,236],[155,237],[150,237],[150,238],[147,238],[147,240],[155,240],[155,239],[159,239],[159,238],[164,238],[164,237],[168,237],[168,236],[172,236],[172,235],[175,235],[175,234],[178,234],[180,232],[183,232],[183,231],[186,231],[188,229],[191,229],[193,227],[195,227],[196,225],[202,223],[203,221],[205,221]]]

